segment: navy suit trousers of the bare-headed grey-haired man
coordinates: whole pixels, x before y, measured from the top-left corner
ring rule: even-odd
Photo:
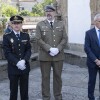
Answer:
[[[99,72],[99,78],[100,78],[100,68],[98,66],[91,68],[88,67],[88,73],[89,73],[89,81],[88,81],[88,98],[89,100],[95,100],[94,97],[94,90],[95,90],[95,84],[96,84],[96,76],[97,72]]]

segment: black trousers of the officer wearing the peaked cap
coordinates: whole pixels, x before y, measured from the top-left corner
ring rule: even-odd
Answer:
[[[29,73],[20,75],[9,75],[10,80],[10,100],[17,100],[18,85],[20,86],[21,100],[28,99]]]

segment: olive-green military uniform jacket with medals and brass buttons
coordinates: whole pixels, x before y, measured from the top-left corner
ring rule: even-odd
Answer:
[[[59,61],[64,60],[64,47],[67,42],[67,34],[62,21],[54,21],[51,28],[47,20],[41,21],[36,27],[36,38],[39,45],[40,61]],[[49,49],[55,47],[59,49],[59,54],[52,57]]]

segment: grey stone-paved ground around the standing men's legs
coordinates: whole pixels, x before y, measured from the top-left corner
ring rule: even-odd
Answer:
[[[67,63],[64,63],[62,79],[63,79],[63,87],[62,87],[63,100],[88,100],[87,98],[88,73],[86,68],[80,68],[75,65],[69,65]],[[52,93],[53,91],[52,91],[52,73],[51,73],[51,100],[54,100]],[[98,93],[98,81],[97,81],[95,96],[98,95],[99,93]],[[31,70],[30,72],[29,98],[30,98],[29,100],[42,100],[41,73],[39,67]],[[8,79],[0,81],[0,100],[9,100]]]

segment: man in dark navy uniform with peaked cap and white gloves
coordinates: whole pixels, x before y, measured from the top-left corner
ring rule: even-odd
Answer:
[[[20,31],[23,20],[21,16],[12,16],[10,21],[13,29],[3,36],[3,50],[8,61],[8,77],[10,80],[9,100],[17,100],[18,85],[20,86],[21,100],[29,100],[28,80],[31,45],[28,33]]]

